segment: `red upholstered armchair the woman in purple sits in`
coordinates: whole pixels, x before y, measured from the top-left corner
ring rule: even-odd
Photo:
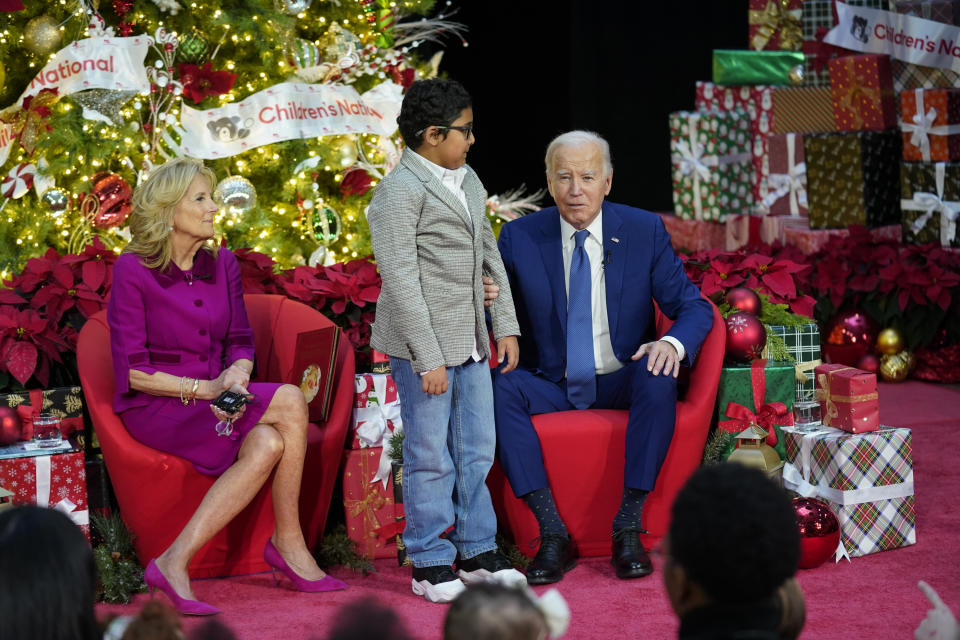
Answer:
[[[289,379],[297,334],[331,324],[318,311],[283,296],[251,294],[244,296],[244,302],[253,328],[257,380]],[[216,479],[198,473],[183,458],[140,444],[113,412],[113,364],[105,311],[93,315],[80,332],[77,361],[120,513],[135,536],[140,562],[146,564],[173,542]],[[337,350],[329,419],[325,424],[312,425],[307,440],[300,521],[310,547],[323,534],[330,509],[353,407],[353,374],[353,349],[349,341],[342,340]],[[273,533],[271,481],[194,556],[190,563],[192,577],[268,569],[262,553]]]

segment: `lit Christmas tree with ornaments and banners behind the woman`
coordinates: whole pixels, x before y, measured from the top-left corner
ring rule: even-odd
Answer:
[[[94,236],[119,250],[132,189],[175,155],[217,173],[231,248],[281,267],[368,255],[402,92],[463,42],[433,5],[0,0],[3,277]],[[516,203],[490,204],[496,218]]]

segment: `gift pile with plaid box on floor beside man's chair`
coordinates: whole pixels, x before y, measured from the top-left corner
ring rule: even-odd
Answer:
[[[773,475],[836,514],[838,560],[915,544],[911,432],[879,424],[876,374],[822,364],[815,324],[771,328],[794,360],[724,366],[718,428],[743,434],[760,427],[763,444],[781,458]],[[795,403],[813,405],[820,419],[795,424]]]

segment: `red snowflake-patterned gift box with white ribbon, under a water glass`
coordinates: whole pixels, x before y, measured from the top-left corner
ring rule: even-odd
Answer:
[[[36,504],[62,511],[90,540],[82,451],[0,459],[0,487],[13,492],[15,505]]]

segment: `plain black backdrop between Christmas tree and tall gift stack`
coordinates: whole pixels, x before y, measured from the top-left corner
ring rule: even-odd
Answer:
[[[747,0],[454,6],[469,46],[448,38],[440,71],[473,96],[477,143],[468,162],[491,194],[521,183],[528,192],[545,187],[550,139],[589,129],[610,142],[611,200],[673,209],[667,115],[693,108],[695,82],[710,79],[713,49],[746,47]]]

